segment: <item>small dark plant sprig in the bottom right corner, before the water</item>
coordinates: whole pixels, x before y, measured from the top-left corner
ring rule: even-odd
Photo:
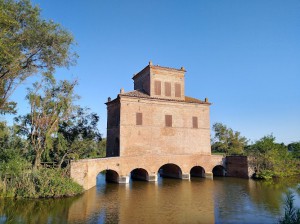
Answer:
[[[284,216],[279,219],[279,224],[299,224],[300,209],[295,208],[294,195],[291,191],[286,194]]]

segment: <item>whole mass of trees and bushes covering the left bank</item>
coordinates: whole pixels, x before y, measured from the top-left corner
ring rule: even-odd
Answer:
[[[30,0],[0,0],[0,27],[0,114],[16,113],[11,94],[28,77],[42,75],[26,96],[30,113],[15,118],[13,127],[0,122],[0,196],[57,197],[82,192],[64,169],[32,169],[32,163],[39,168],[42,160],[55,161],[58,139],[70,137],[64,134],[72,128],[73,139],[65,139],[68,148],[64,150],[90,157],[103,144],[96,127],[98,116],[75,115],[77,83],[57,82],[53,76],[57,67],[76,62],[73,37],[59,24],[42,19]],[[62,129],[63,124],[68,126]],[[64,154],[58,158],[63,161]]]

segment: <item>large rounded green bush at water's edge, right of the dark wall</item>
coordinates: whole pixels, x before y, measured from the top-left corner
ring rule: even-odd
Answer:
[[[272,135],[264,136],[248,146],[246,152],[252,158],[250,166],[255,170],[256,178],[269,179],[299,173],[298,162],[284,144],[275,142]]]

